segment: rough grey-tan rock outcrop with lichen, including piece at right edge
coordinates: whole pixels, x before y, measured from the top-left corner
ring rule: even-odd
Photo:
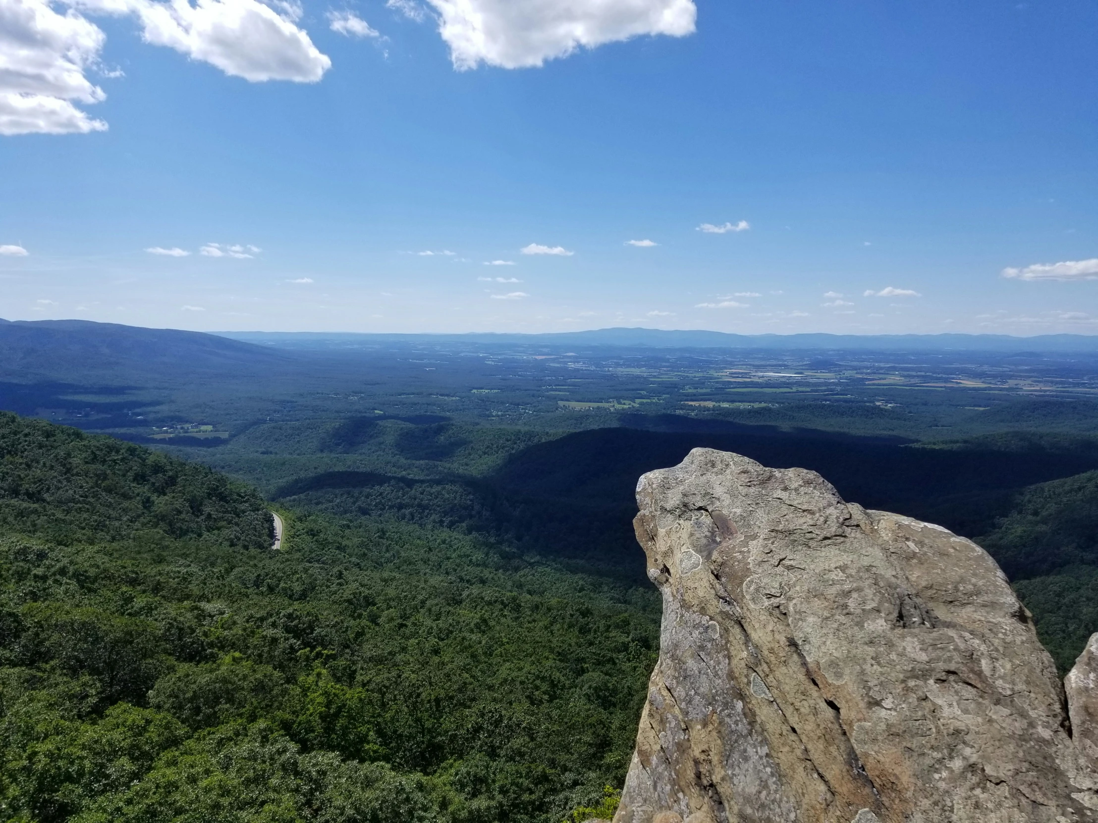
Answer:
[[[1098,643],[1073,740],[978,545],[712,449],[637,499],[663,628],[615,823],[1098,821]]]

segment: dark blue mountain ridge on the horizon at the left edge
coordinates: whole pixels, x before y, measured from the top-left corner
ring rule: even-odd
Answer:
[[[217,335],[90,320],[0,319],[0,373],[225,371],[271,365],[292,356]]]

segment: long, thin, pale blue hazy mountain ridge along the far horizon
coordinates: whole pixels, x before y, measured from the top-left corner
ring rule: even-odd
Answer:
[[[637,348],[825,349],[867,351],[1098,351],[1098,335],[737,335],[726,331],[604,328],[548,334],[357,334],[316,331],[219,331],[224,337],[274,348],[339,349],[383,342],[464,342],[522,346],[624,346]]]

